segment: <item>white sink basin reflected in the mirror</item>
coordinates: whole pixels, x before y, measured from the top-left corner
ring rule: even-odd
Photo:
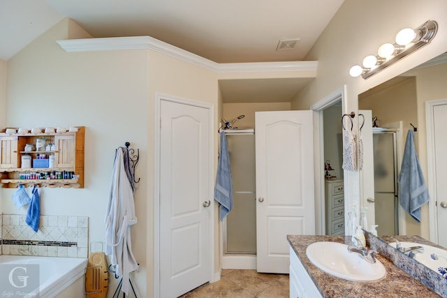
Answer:
[[[404,248],[409,248],[413,246],[422,246],[424,248],[423,253],[415,253],[414,260],[418,260],[421,264],[425,265],[426,267],[429,267],[433,271],[436,271],[439,273],[438,268],[439,267],[447,267],[447,251],[441,248],[437,248],[434,246],[430,246],[427,244],[420,244],[417,242],[400,242],[400,245]],[[390,243],[390,246],[396,247],[396,243],[392,242]],[[438,256],[438,260],[432,260],[430,255],[434,253]],[[440,274],[440,273],[439,273]]]

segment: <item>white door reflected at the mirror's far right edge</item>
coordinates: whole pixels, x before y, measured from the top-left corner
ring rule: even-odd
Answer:
[[[434,105],[434,153],[436,161],[436,198],[438,244],[447,247],[447,105]]]

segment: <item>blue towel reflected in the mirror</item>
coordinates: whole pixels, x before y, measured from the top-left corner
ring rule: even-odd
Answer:
[[[420,222],[420,207],[430,200],[430,196],[425,187],[413,137],[414,132],[410,129],[406,135],[404,158],[398,180],[399,200],[402,208]]]

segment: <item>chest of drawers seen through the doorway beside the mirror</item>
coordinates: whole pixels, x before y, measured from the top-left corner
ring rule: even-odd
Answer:
[[[343,180],[325,181],[326,234],[344,234],[344,184]]]

